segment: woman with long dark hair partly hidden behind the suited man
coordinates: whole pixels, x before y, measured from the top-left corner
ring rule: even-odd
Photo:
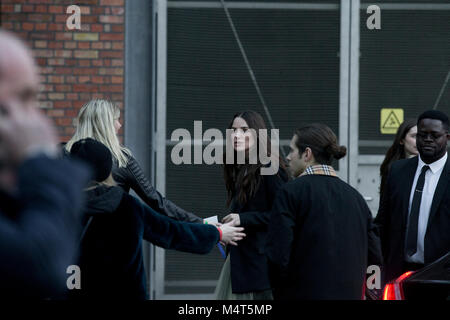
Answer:
[[[386,153],[383,163],[380,167],[380,199],[384,192],[386,178],[394,161],[407,159],[417,156],[419,153],[416,147],[417,121],[408,119],[403,121],[397,130],[394,142]]]

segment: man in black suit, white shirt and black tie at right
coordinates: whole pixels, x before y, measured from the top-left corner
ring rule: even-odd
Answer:
[[[435,261],[450,250],[448,116],[429,110],[417,121],[419,156],[395,162],[375,219],[385,282]]]

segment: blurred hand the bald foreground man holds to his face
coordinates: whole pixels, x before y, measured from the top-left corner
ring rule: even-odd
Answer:
[[[34,152],[58,153],[55,129],[35,106],[0,105],[0,153],[18,166]]]

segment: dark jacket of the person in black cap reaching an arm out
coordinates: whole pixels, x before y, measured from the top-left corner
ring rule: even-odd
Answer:
[[[216,227],[165,217],[119,187],[87,191],[81,243],[81,298],[147,298],[142,239],[165,248],[205,254],[219,241]],[[92,219],[89,219],[91,218]]]

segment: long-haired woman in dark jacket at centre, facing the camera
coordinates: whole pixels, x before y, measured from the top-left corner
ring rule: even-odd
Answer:
[[[227,163],[224,159],[230,214],[222,222],[244,227],[246,238],[241,240],[238,246],[229,248],[216,288],[216,298],[272,299],[267,258],[264,253],[267,226],[272,202],[278,189],[287,182],[288,174],[278,150],[271,149],[268,135],[265,137],[267,141],[261,137],[260,130],[267,128],[259,113],[236,113],[228,129],[232,130],[228,138],[232,143],[234,161]],[[271,159],[270,164],[261,161],[263,153]],[[239,161],[242,158],[245,161]],[[273,163],[279,164],[279,170],[272,175],[262,174],[263,169]]]

